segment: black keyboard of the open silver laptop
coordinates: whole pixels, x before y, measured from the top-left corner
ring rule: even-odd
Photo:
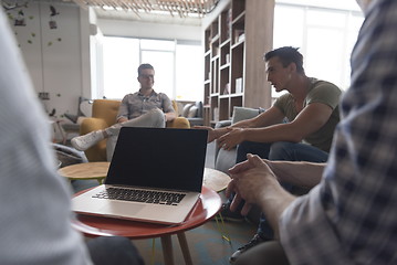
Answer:
[[[185,195],[176,192],[106,188],[93,198],[178,205]]]

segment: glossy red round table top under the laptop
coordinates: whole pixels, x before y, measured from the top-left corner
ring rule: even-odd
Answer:
[[[80,193],[85,191],[87,190]],[[201,195],[197,204],[186,221],[180,225],[163,225],[77,214],[76,220],[72,221],[72,226],[90,237],[109,235],[119,235],[136,240],[159,237],[161,235],[175,234],[200,226],[219,212],[221,204],[221,199],[217,192],[202,187]]]

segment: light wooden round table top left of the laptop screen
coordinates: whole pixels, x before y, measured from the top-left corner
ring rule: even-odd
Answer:
[[[107,176],[109,162],[75,163],[58,170],[58,172],[70,180],[95,179],[102,184]]]

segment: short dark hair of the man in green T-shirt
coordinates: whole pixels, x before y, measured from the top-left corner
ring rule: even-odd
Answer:
[[[296,72],[303,74],[303,56],[297,50],[299,47],[292,46],[275,49],[264,54],[264,62],[268,62],[272,57],[279,57],[284,67],[294,63],[296,65]]]

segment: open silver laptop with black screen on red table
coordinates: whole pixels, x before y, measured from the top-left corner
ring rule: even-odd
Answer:
[[[104,184],[74,197],[72,210],[181,224],[201,192],[207,134],[202,129],[123,127]]]

